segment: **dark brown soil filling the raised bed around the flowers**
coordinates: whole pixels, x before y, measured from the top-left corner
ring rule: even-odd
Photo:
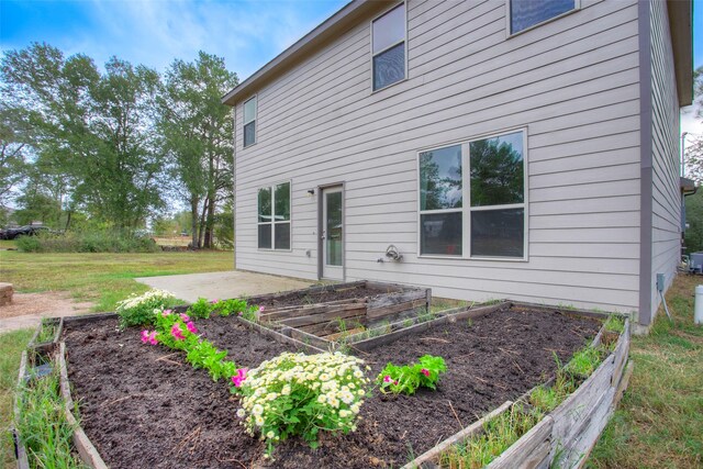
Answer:
[[[180,354],[141,344],[138,331],[115,321],[69,326],[69,376],[81,399],[83,428],[111,468],[232,468],[266,465],[264,447],[237,425],[236,398],[223,381],[183,364]],[[198,326],[237,362],[254,367],[287,350],[233,317]],[[480,415],[544,381],[595,335],[599,323],[503,310],[406,336],[360,354],[375,377],[388,361],[443,356],[448,371],[436,392],[376,395],[361,407],[355,433],[323,436],[320,448],[298,439],[276,449],[271,467],[399,467]],[[122,344],[122,345],[121,345]],[[168,356],[168,359],[157,359]],[[456,412],[456,415],[455,415]],[[460,423],[459,423],[460,421]]]

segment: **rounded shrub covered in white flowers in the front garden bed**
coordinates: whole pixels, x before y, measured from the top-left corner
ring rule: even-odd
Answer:
[[[237,416],[250,435],[260,434],[268,456],[289,436],[302,436],[315,448],[321,429],[354,432],[369,382],[362,362],[338,353],[281,354],[248,371],[241,387],[233,388],[244,395]]]

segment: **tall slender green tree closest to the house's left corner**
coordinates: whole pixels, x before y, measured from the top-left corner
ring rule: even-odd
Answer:
[[[194,63],[175,60],[159,99],[158,129],[178,196],[191,212],[194,247],[214,247],[217,204],[233,193],[233,121],[220,98],[237,83],[224,59],[200,52]]]

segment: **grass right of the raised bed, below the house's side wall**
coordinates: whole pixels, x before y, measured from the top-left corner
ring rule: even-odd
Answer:
[[[703,466],[703,327],[693,324],[701,277],[679,276],[648,336],[633,336],[635,370],[589,460],[591,468]]]

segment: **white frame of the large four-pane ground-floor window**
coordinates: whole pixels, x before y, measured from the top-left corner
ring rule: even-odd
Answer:
[[[469,144],[471,142],[482,141],[487,138],[500,137],[505,134],[513,134],[522,132],[523,134],[523,202],[510,203],[502,205],[486,205],[486,206],[471,206],[471,186],[470,186],[470,155]],[[461,208],[460,209],[440,209],[440,210],[421,210],[421,175],[420,175],[420,155],[433,149],[446,148],[449,146],[461,145]],[[527,174],[528,165],[528,149],[527,149],[527,126],[504,129],[496,132],[490,132],[472,136],[470,138],[462,138],[460,141],[451,141],[439,145],[433,145],[429,147],[421,148],[416,152],[416,168],[417,168],[417,258],[425,259],[458,259],[458,260],[496,260],[505,263],[527,263],[529,261],[529,187],[527,185],[529,178]],[[471,212],[490,211],[490,210],[507,210],[507,209],[523,209],[523,257],[505,257],[505,256],[473,256],[471,254]],[[435,214],[435,213],[461,213],[461,255],[442,255],[442,254],[422,254],[422,215]]]

